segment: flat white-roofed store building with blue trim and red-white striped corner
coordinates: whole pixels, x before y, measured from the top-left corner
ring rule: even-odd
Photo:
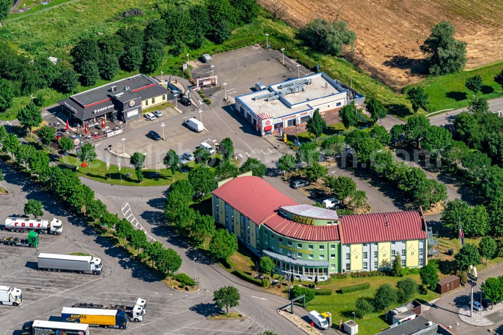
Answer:
[[[304,124],[315,110],[338,111],[344,105],[360,104],[365,97],[324,72],[313,73],[268,86],[235,98],[235,109],[255,126],[261,136]]]

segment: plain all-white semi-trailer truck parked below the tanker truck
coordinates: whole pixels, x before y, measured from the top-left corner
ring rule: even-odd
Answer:
[[[38,255],[38,269],[47,271],[69,271],[87,273],[93,275],[101,274],[103,264],[101,259],[94,256],[73,256],[59,254]]]

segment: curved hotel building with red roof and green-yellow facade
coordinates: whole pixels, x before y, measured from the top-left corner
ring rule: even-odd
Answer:
[[[213,217],[251,252],[267,255],[276,272],[302,280],[332,273],[390,269],[394,255],[409,268],[427,264],[422,211],[344,215],[297,204],[259,177],[219,183]]]

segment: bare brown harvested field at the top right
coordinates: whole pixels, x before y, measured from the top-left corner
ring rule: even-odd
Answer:
[[[259,0],[296,27],[314,18],[345,20],[357,33],[351,59],[387,85],[403,87],[424,77],[419,47],[443,21],[468,43],[466,69],[503,58],[501,0]]]

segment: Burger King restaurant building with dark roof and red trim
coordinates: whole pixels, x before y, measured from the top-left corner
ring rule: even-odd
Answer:
[[[71,121],[81,126],[99,122],[101,118],[127,122],[140,118],[142,108],[166,102],[167,94],[167,90],[157,81],[137,74],[74,94],[58,104]]]

